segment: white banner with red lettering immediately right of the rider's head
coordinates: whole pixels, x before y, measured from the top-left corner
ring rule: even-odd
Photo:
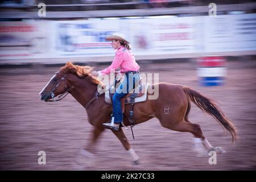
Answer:
[[[136,55],[159,55],[194,51],[193,17],[130,20]]]

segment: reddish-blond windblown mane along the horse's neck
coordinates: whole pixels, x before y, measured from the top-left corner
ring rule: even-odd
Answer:
[[[66,73],[73,73],[80,78],[86,78],[91,84],[101,85],[102,88],[104,88],[105,85],[102,81],[89,74],[93,71],[93,69],[94,67],[75,65],[71,61],[68,61],[66,65],[60,68],[60,71],[64,71]]]

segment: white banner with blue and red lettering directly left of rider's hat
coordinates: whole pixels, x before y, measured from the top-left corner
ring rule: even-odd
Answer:
[[[57,56],[113,55],[111,43],[105,42],[105,38],[119,31],[118,21],[117,19],[54,22]]]

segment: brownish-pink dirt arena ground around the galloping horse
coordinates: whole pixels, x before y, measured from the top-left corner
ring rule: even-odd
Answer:
[[[97,69],[105,66],[98,66]],[[225,154],[210,165],[207,152],[193,150],[189,133],[164,129],[157,119],[125,130],[141,164],[133,166],[129,154],[110,130],[97,143],[96,158],[80,156],[92,126],[86,111],[72,96],[43,102],[38,93],[59,67],[0,69],[0,169],[3,170],[255,170],[256,169],[256,61],[229,61],[224,86],[198,84],[195,63],[141,64],[141,71],[159,73],[159,81],[187,85],[217,101],[238,129],[237,142],[209,115],[192,104],[189,119],[201,125],[205,137]],[[46,165],[38,152],[46,152]],[[79,160],[80,165],[76,164]],[[81,166],[82,164],[87,164]]]

